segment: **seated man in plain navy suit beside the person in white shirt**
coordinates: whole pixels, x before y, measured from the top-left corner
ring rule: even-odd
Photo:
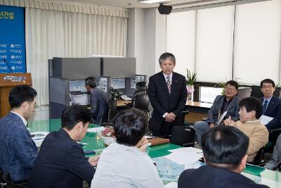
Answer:
[[[98,156],[86,158],[77,143],[83,139],[91,120],[90,111],[83,106],[65,108],[62,128],[49,133],[41,144],[30,175],[30,187],[83,187],[91,182]]]

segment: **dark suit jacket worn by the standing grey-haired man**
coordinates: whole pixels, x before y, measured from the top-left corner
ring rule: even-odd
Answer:
[[[164,113],[173,112],[178,119],[185,109],[187,90],[185,77],[173,72],[171,80],[171,94],[169,94],[166,80],[162,72],[152,75],[148,84],[148,96],[153,107],[150,128],[160,130]]]

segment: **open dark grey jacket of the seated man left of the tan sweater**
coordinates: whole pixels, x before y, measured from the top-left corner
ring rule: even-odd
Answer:
[[[214,104],[211,106],[211,108],[208,111],[208,123],[216,123],[218,121],[218,112],[221,111],[221,107],[223,106],[223,101],[226,98],[224,95],[218,95],[216,96],[216,99],[214,100]],[[237,121],[239,120],[239,98],[237,96],[234,96],[234,98],[230,101],[230,104],[228,105],[228,113],[226,113],[226,117],[228,118],[231,116],[231,120]]]

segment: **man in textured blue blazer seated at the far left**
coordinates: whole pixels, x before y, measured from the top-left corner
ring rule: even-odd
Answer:
[[[12,182],[27,182],[37,157],[37,147],[25,127],[36,96],[30,86],[13,87],[8,96],[11,112],[0,120],[0,168],[10,173]]]

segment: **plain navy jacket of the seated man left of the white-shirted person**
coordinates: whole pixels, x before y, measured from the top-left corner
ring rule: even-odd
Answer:
[[[49,133],[41,144],[30,175],[30,187],[83,187],[95,169],[77,142],[65,130]]]

